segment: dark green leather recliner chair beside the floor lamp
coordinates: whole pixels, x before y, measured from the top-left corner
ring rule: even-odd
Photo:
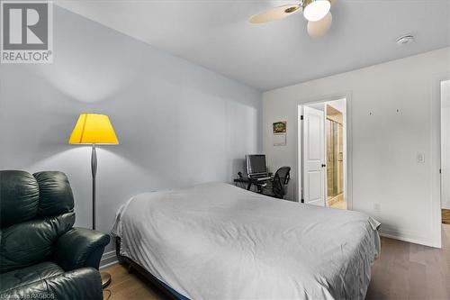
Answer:
[[[109,235],[74,228],[61,172],[0,171],[2,299],[103,299],[98,266]]]

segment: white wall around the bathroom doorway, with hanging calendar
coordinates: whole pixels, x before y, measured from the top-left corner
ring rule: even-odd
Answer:
[[[446,48],[264,93],[263,140],[269,167],[293,167],[296,182],[297,105],[350,95],[353,209],[374,215],[385,234],[438,246],[432,223],[433,178],[438,173],[432,161],[439,156],[432,136],[439,119],[433,78],[449,70]],[[271,143],[271,124],[279,120],[288,124],[285,147]],[[425,153],[425,163],[418,163],[418,153]],[[290,186],[290,197],[296,197],[295,188]],[[374,204],[381,205],[380,212],[374,211]]]

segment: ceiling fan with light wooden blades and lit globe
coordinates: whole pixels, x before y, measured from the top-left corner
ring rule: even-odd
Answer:
[[[329,12],[335,0],[301,0],[298,5],[281,5],[252,15],[248,22],[266,23],[281,20],[300,11],[308,20],[307,30],[312,38],[319,38],[329,31],[333,16]]]

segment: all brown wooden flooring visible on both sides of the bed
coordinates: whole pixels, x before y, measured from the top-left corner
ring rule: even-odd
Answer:
[[[105,300],[164,299],[145,278],[128,274],[121,265],[104,270],[112,275]],[[450,225],[443,225],[443,249],[382,238],[382,255],[374,263],[366,299],[450,299]]]

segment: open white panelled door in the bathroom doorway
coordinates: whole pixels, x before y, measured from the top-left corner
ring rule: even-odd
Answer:
[[[324,112],[303,106],[303,199],[325,206]]]

